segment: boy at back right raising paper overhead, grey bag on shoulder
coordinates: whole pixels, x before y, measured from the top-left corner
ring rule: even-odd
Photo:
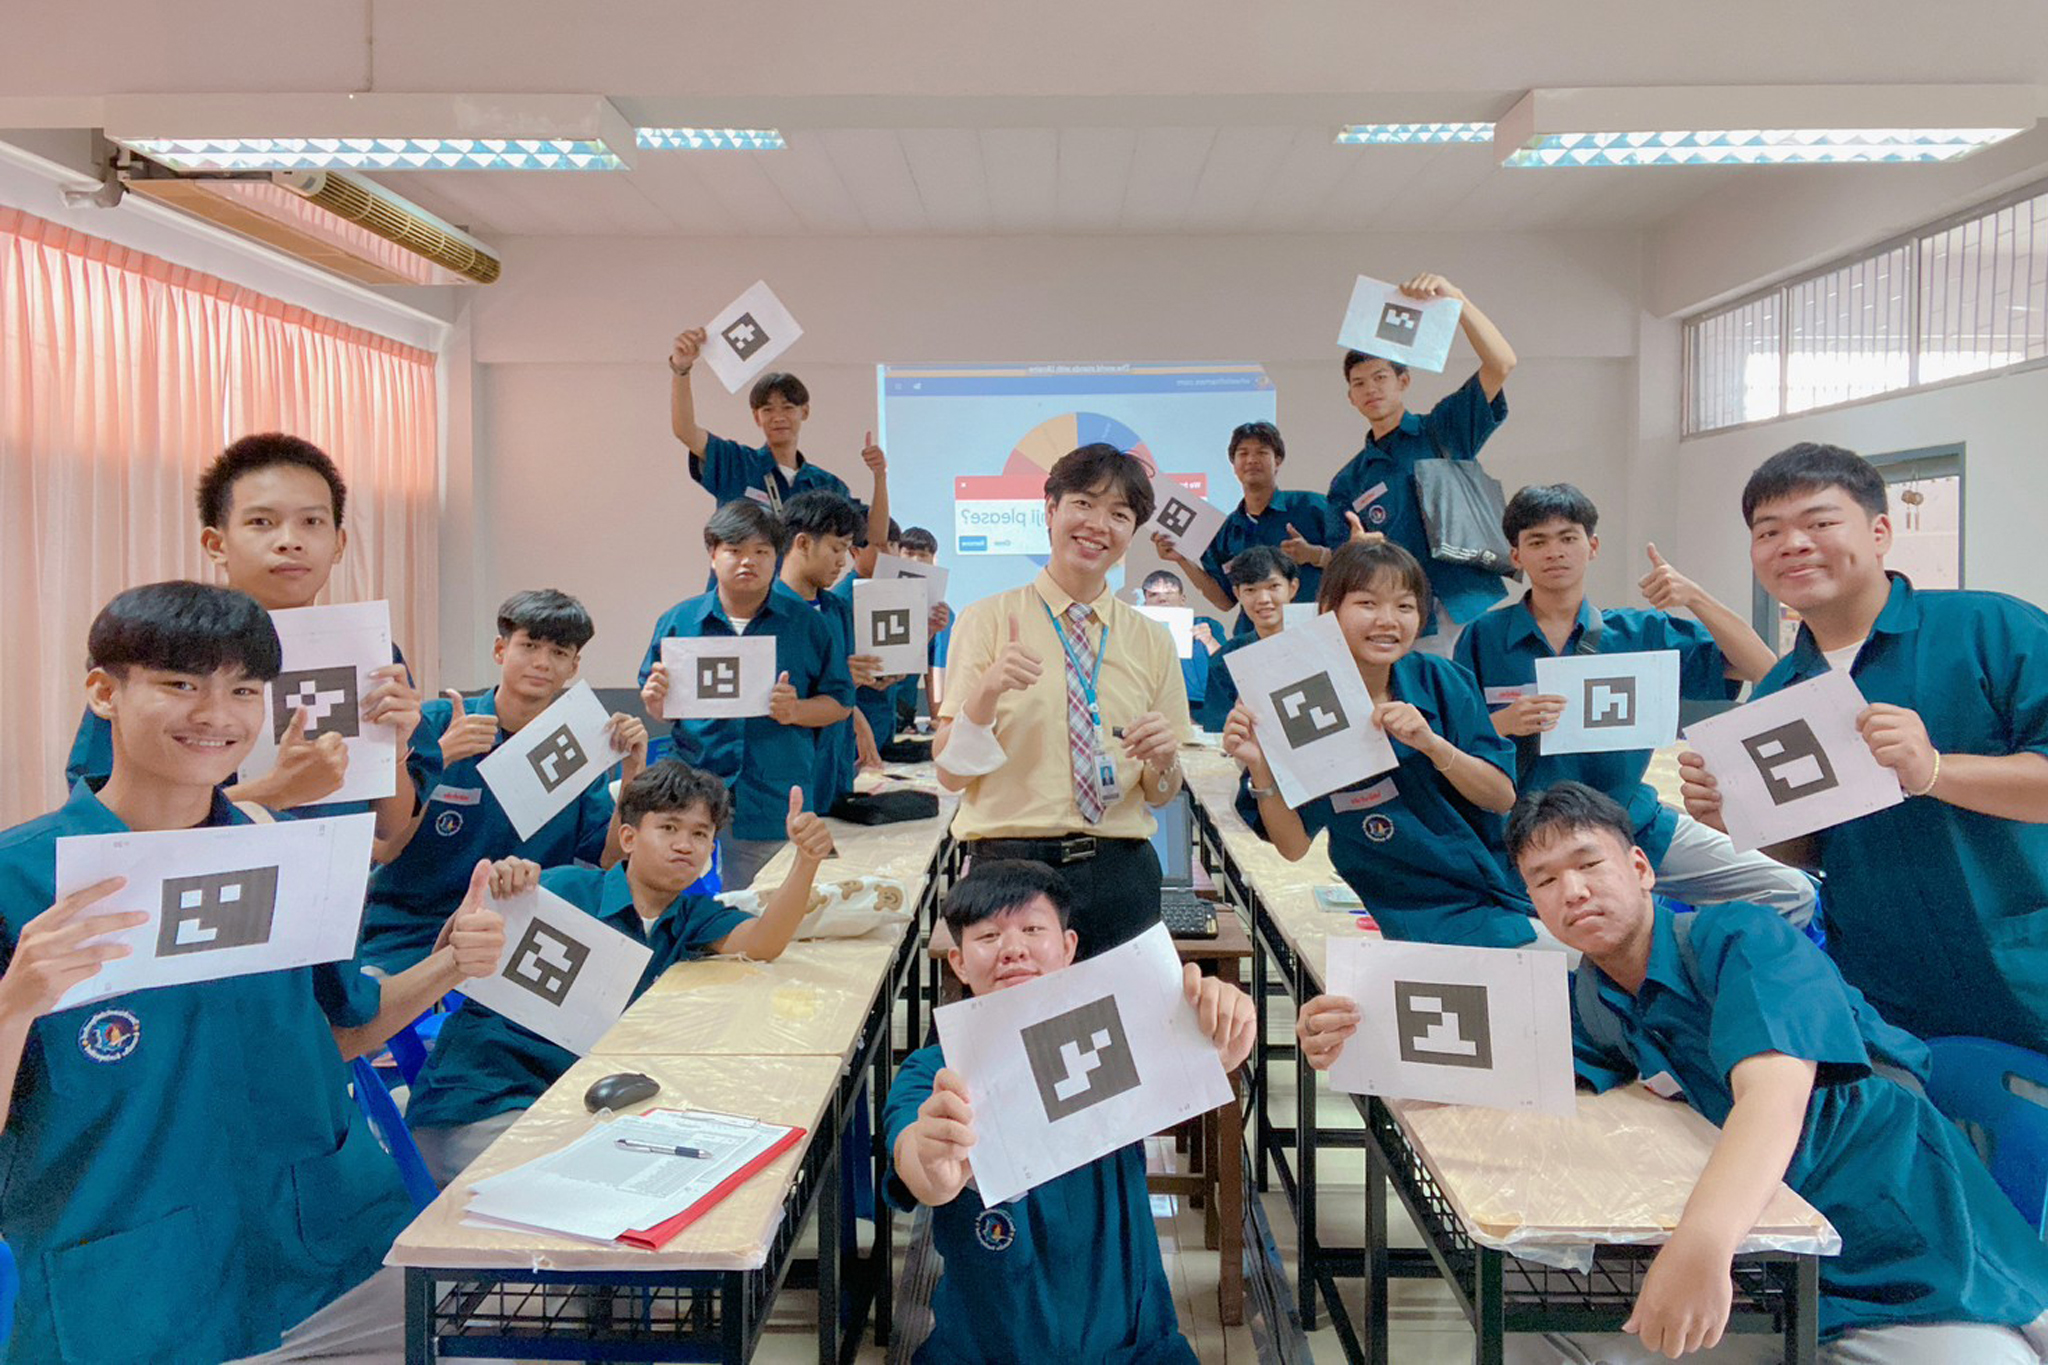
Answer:
[[[1497,573],[1430,555],[1430,534],[1415,501],[1415,465],[1479,458],[1479,448],[1507,420],[1503,385],[1516,368],[1516,352],[1501,329],[1442,274],[1417,274],[1401,293],[1409,299],[1464,299],[1458,329],[1479,352],[1479,372],[1417,415],[1407,409],[1405,364],[1362,350],[1346,352],[1346,393],[1368,430],[1366,446],[1329,481],[1329,505],[1364,534],[1384,534],[1423,565],[1442,608],[1423,622],[1419,649],[1448,655],[1458,626],[1505,598],[1507,589]]]

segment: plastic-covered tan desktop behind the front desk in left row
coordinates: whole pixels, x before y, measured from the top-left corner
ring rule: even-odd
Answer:
[[[846,1056],[895,960],[901,929],[791,943],[774,962],[678,962],[592,1056],[639,1052]]]

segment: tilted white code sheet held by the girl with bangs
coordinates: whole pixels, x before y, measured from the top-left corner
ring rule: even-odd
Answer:
[[[1288,806],[1395,765],[1393,741],[1372,722],[1372,694],[1333,612],[1231,651],[1223,663]]]

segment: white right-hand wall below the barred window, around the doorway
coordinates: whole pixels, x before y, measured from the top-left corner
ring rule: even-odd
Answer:
[[[1675,489],[1688,573],[1724,602],[1749,602],[1743,481],[1794,442],[1823,440],[1858,454],[1962,444],[1964,587],[2048,602],[2044,413],[2048,368],[2034,368],[1688,440],[1677,448]]]

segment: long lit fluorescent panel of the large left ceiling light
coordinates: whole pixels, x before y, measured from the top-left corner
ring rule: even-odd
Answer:
[[[575,137],[135,137],[172,170],[621,170],[602,141]]]

